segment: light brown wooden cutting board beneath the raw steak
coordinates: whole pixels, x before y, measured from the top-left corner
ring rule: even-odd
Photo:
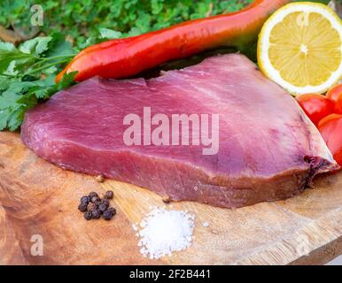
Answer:
[[[107,189],[117,215],[86,221],[77,210],[80,197]],[[152,206],[171,205],[196,216],[192,245],[144,258],[132,224]],[[36,235],[43,256],[35,255]],[[0,133],[0,264],[324,264],[341,253],[342,172],[276,203],[237,210],[164,204],[147,189],[64,171],[36,157],[19,134]]]

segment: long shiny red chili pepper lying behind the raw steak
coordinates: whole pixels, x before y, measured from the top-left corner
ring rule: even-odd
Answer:
[[[58,73],[78,71],[76,81],[93,76],[120,79],[169,60],[204,50],[233,46],[243,49],[255,42],[266,19],[291,0],[256,0],[242,11],[194,19],[173,27],[126,39],[102,42],[82,50]]]

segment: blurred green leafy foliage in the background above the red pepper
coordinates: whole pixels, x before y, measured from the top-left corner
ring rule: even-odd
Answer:
[[[41,30],[71,36],[76,45],[97,37],[99,28],[121,37],[169,27],[187,19],[237,11],[253,0],[0,0],[0,25],[29,32],[33,4],[43,6]]]

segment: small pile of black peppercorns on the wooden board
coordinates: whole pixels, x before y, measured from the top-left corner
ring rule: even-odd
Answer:
[[[83,195],[78,210],[84,212],[84,218],[87,220],[98,219],[101,215],[105,220],[111,220],[116,214],[116,210],[109,205],[109,200],[113,199],[113,195],[113,191],[105,192],[105,197],[102,199],[96,192]]]

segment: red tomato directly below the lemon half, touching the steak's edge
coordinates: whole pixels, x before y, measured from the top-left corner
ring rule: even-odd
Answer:
[[[316,94],[301,95],[297,98],[297,101],[315,125],[318,125],[321,119],[334,112],[335,104],[325,96]]]

